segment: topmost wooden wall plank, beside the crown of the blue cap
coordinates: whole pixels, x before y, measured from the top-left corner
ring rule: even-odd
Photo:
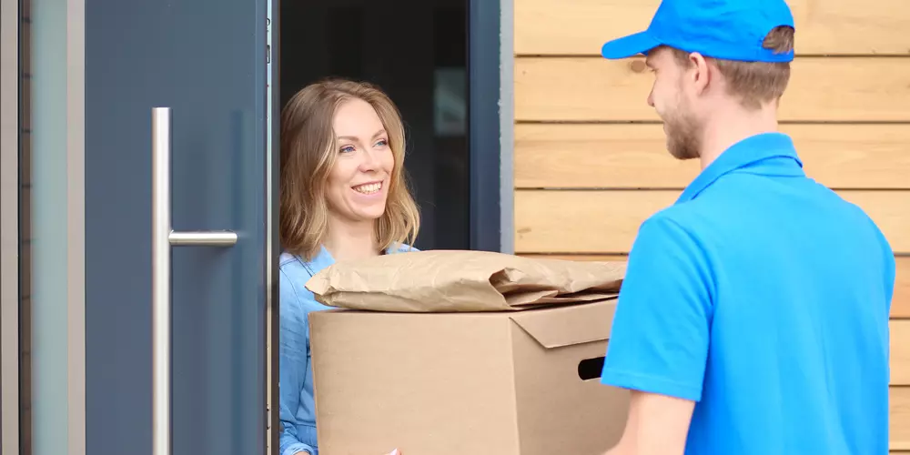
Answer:
[[[798,55],[910,54],[906,0],[788,0]],[[642,30],[660,0],[515,0],[519,56],[598,56],[609,36]]]

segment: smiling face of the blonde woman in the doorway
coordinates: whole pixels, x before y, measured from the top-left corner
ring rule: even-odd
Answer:
[[[329,210],[351,222],[382,217],[395,157],[379,115],[366,101],[350,99],[339,106],[332,127],[338,158],[329,171]]]

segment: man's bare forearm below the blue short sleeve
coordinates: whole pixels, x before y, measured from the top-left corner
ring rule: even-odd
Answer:
[[[604,455],[682,455],[695,402],[632,390],[619,444]]]

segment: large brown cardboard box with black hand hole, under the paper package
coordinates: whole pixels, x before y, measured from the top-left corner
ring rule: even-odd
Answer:
[[[599,380],[614,308],[310,313],[319,453],[602,455],[628,412]]]

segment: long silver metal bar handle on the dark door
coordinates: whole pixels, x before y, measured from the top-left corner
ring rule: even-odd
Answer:
[[[231,247],[231,231],[171,227],[170,107],[152,108],[152,455],[171,455],[172,246]]]

